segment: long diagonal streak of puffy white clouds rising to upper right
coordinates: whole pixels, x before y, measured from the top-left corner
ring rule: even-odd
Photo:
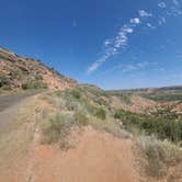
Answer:
[[[150,30],[156,30],[159,25],[167,23],[167,16],[182,15],[181,4],[178,0],[171,0],[169,7],[164,1],[160,1],[157,5],[161,9],[161,14],[156,15],[147,10],[138,10],[138,16],[132,18],[126,24],[121,26],[116,35],[112,38],[104,41],[104,50],[102,56],[94,61],[87,70],[88,73],[92,73],[101,67],[107,59],[120,53],[121,49],[128,46],[130,35],[136,33],[136,27],[145,24]],[[150,20],[153,20],[156,24],[151,24]]]

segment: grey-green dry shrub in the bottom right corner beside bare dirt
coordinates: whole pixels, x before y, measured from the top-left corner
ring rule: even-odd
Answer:
[[[146,172],[155,178],[166,175],[170,167],[182,162],[182,151],[168,140],[161,141],[155,136],[141,136],[139,146],[147,160]]]

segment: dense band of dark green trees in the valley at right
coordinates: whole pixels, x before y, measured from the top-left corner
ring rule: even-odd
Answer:
[[[182,140],[181,115],[171,113],[168,110],[152,114],[116,111],[114,117],[122,120],[124,126],[129,130],[137,128],[140,133],[153,134],[159,139],[169,139],[174,143]]]

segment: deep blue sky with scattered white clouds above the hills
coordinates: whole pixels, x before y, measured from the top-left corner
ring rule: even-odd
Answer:
[[[103,89],[182,84],[182,0],[0,0],[0,46]]]

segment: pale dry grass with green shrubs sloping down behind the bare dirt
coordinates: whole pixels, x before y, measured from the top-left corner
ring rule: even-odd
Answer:
[[[115,136],[126,136],[126,132],[122,132],[120,123],[113,118],[112,111],[109,111],[104,105],[91,102],[90,98],[86,98],[83,93],[64,91],[53,93],[46,100],[57,109],[58,113],[70,115],[69,120],[72,120],[75,125],[86,126],[89,124]],[[65,122],[70,123],[69,120]]]

